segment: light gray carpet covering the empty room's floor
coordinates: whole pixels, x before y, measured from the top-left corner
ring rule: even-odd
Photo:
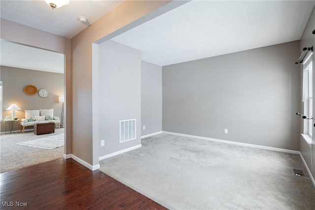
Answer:
[[[100,171],[171,210],[315,210],[297,154],[158,134]]]

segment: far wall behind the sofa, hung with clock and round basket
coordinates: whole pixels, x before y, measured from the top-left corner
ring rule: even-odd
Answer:
[[[25,109],[39,108],[54,108],[54,115],[61,117],[62,103],[58,102],[58,96],[64,94],[63,74],[0,66],[0,80],[3,82],[3,119],[5,116],[11,115],[12,112],[6,111],[6,109],[12,103],[21,108],[21,110],[16,111],[16,117],[19,119],[25,117]],[[50,94],[46,98],[42,98],[38,94],[27,95],[24,93],[26,85],[34,85],[38,90],[46,88],[50,91]],[[5,126],[1,123],[1,131],[4,131],[4,129]]]

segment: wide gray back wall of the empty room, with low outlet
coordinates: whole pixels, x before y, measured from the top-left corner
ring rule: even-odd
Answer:
[[[163,66],[163,131],[299,150],[298,57],[294,41]]]

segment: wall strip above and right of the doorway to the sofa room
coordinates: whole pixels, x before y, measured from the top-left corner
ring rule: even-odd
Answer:
[[[72,136],[72,83],[71,83],[71,40],[63,36],[55,35],[46,31],[37,30],[12,21],[0,19],[0,38],[19,44],[25,44],[64,53],[64,89],[65,89],[65,145],[64,154],[71,154]]]

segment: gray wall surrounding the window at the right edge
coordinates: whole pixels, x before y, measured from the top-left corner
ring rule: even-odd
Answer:
[[[299,53],[301,54],[303,52],[304,47],[311,47],[315,48],[315,34],[312,33],[312,31],[315,30],[315,7],[313,8],[313,12],[310,16],[310,19],[305,27],[305,30],[303,32],[302,38],[300,40],[300,48]],[[303,65],[299,65],[300,71],[303,72]],[[315,50],[313,50],[313,92],[315,92]],[[301,81],[303,81],[303,73],[300,74]],[[302,92],[302,84],[301,84],[301,92]],[[303,104],[301,103],[301,108],[303,107]],[[313,110],[315,110],[315,103],[313,103]],[[302,112],[302,110],[301,110]],[[314,111],[313,111],[314,113]],[[313,116],[314,117],[314,116]],[[315,121],[313,120],[313,123]],[[313,133],[315,133],[315,127],[313,127]],[[303,125],[302,125],[302,119],[301,119],[301,133],[303,133]],[[313,142],[315,142],[315,135],[313,135]],[[313,161],[313,167],[312,167],[312,156],[313,159],[315,158],[315,148],[310,147],[310,145],[303,139],[302,136],[300,136],[300,151],[301,154],[310,170],[312,168],[315,168],[315,161]],[[315,174],[313,172],[313,178],[315,179]]]

